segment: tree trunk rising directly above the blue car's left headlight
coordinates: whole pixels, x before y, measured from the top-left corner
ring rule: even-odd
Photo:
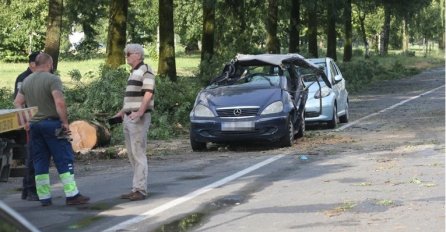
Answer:
[[[214,56],[215,0],[203,0],[203,34],[201,37],[201,63]]]

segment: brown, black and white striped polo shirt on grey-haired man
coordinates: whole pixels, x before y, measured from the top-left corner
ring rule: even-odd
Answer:
[[[148,91],[151,91],[153,94],[155,93],[155,75],[148,65],[141,62],[132,70],[127,80],[123,111],[138,111],[144,94]],[[147,109],[153,110],[154,105],[152,95]]]

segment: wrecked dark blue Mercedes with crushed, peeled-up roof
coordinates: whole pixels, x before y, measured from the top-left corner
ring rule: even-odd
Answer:
[[[198,93],[190,113],[192,149],[205,150],[208,142],[292,146],[304,135],[308,97],[298,67],[324,75],[298,54],[238,55]]]

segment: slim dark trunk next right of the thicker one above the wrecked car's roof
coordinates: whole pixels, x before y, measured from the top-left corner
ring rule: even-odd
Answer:
[[[289,53],[299,52],[300,0],[292,0],[290,12]]]

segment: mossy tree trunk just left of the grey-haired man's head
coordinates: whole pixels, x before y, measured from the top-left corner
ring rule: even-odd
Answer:
[[[111,0],[107,37],[107,61],[111,68],[125,64],[128,0]]]

